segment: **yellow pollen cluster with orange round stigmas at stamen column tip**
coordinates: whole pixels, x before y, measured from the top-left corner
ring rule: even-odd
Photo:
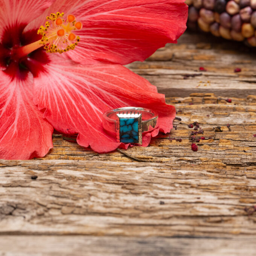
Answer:
[[[80,37],[73,31],[82,28],[80,21],[76,22],[75,16],[69,14],[66,20],[63,20],[64,13],[51,13],[47,16],[44,26],[40,26],[37,34],[42,36],[40,44],[44,44],[46,52],[67,52],[75,49]]]

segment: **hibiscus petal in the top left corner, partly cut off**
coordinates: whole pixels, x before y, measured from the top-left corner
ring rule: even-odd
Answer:
[[[0,41],[9,47],[19,45],[24,27],[55,0],[0,0]]]

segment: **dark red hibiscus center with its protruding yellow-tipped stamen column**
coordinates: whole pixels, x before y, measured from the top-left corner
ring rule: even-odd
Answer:
[[[0,69],[12,74],[14,69],[27,70],[35,76],[38,73],[35,61],[46,64],[46,52],[62,53],[75,49],[80,38],[73,34],[73,30],[81,29],[82,23],[77,22],[72,14],[67,16],[66,21],[62,16],[63,13],[59,12],[51,14],[45,27],[41,26],[38,30],[23,32],[27,24],[5,29],[0,42]],[[8,72],[10,68],[12,72]]]

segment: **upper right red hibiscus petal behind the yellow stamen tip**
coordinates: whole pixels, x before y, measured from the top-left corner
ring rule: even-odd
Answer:
[[[81,42],[62,56],[128,64],[149,57],[166,43],[176,43],[186,29],[184,0],[92,0],[55,2],[27,29],[39,27],[51,12],[72,13],[82,21]]]

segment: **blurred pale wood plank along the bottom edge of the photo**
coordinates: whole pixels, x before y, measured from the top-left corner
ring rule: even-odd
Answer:
[[[0,256],[254,256],[254,239],[0,236]]]

